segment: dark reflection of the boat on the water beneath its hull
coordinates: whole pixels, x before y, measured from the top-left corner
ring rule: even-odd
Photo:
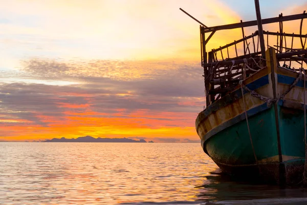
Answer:
[[[280,188],[279,186],[257,184],[255,182],[235,181],[223,173],[211,173],[206,177],[203,185],[196,186],[200,193],[197,200],[210,201],[232,201],[232,200],[254,200],[255,199],[284,199],[307,197],[306,190],[302,188]],[[296,200],[296,199],[295,199]],[[294,201],[295,201],[294,200]],[[271,202],[274,200],[270,200]],[[286,200],[286,201],[291,201]],[[307,198],[304,199],[307,204]],[[258,203],[257,203],[258,204]]]

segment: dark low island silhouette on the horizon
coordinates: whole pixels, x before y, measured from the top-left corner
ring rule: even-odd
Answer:
[[[62,138],[53,138],[53,139],[47,139],[42,142],[146,142],[144,139],[140,140],[134,140],[134,139],[128,139],[128,138],[94,138],[92,136],[85,136],[85,137],[78,137],[78,138],[72,138],[67,139],[65,137]],[[153,141],[150,141],[153,142]]]

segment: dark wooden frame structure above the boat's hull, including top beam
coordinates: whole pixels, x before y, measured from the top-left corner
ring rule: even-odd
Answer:
[[[307,50],[305,50],[307,34],[302,34],[303,19],[307,18],[305,11],[287,16],[281,13],[278,17],[261,19],[256,4],[257,20],[249,22],[240,20],[240,23],[207,27],[183,9],[180,8],[180,10],[201,24],[201,65],[204,68],[206,107],[234,90],[240,80],[266,67],[265,50],[268,48],[274,48],[276,51],[277,63],[280,67],[298,71],[299,68],[291,68],[293,62],[299,64],[301,68],[303,63],[307,63]],[[299,34],[283,32],[283,22],[298,19],[301,20]],[[272,23],[279,23],[279,32],[262,31],[263,24]],[[251,35],[245,35],[245,27],[257,25],[258,30]],[[216,31],[237,28],[242,29],[241,39],[207,51],[206,46]],[[210,33],[207,38],[206,33]],[[299,38],[301,48],[293,48],[295,38]],[[232,54],[235,53],[235,56],[231,56],[229,51],[232,51]]]

